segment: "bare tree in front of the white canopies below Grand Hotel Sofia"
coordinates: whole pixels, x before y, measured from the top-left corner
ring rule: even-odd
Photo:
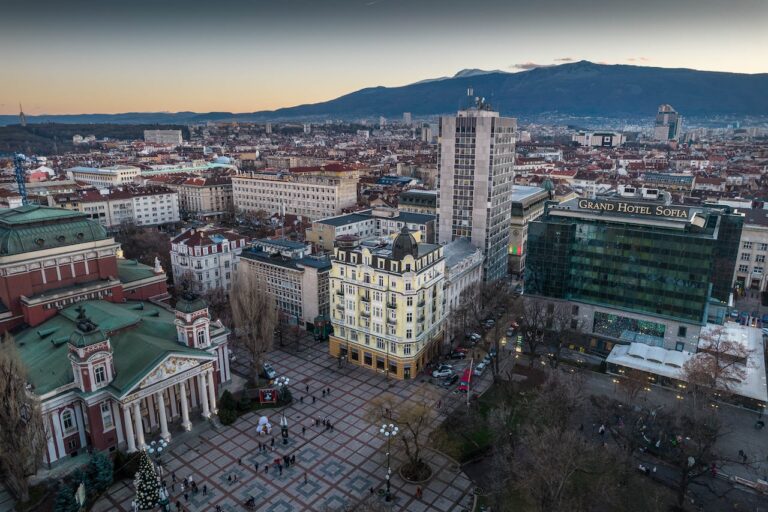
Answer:
[[[750,355],[749,348],[728,338],[722,327],[702,334],[699,351],[683,365],[694,406],[704,406],[714,394],[731,394],[747,376]]]

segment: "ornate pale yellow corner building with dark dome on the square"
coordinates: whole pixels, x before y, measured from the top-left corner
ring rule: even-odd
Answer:
[[[444,335],[443,250],[417,243],[407,228],[386,244],[340,237],[330,276],[330,354],[415,378]]]

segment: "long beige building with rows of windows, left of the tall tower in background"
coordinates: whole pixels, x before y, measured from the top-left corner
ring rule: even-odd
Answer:
[[[232,177],[233,200],[237,211],[322,219],[357,204],[358,179],[357,171],[323,167],[306,172],[238,174]]]

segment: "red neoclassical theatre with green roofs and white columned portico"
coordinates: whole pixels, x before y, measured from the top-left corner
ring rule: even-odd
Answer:
[[[216,414],[229,331],[194,295],[167,304],[166,276],[125,260],[84,214],[0,213],[0,331],[13,334],[41,403],[46,460],[132,452]]]

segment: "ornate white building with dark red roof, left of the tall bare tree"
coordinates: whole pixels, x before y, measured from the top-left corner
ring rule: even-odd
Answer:
[[[174,281],[191,273],[194,291],[229,290],[245,237],[224,229],[188,229],[171,240]]]

